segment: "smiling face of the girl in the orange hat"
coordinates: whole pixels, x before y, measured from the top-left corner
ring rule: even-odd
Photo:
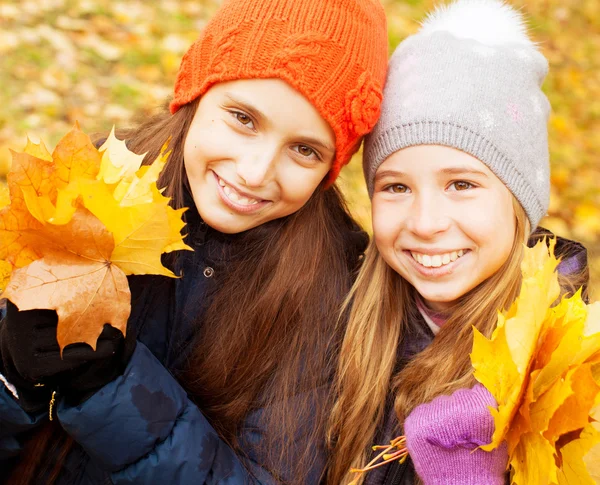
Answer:
[[[296,212],[334,158],[329,124],[279,79],[210,88],[200,99],[184,145],[200,216],[229,234]]]

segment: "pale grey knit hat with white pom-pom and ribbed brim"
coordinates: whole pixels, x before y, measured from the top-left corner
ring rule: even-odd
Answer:
[[[535,229],[550,198],[550,105],[540,89],[547,72],[521,15],[500,0],[435,10],[390,60],[381,117],[365,142],[369,195],[394,152],[449,146],[485,163]]]

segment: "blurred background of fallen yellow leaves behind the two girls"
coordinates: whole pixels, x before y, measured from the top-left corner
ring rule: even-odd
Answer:
[[[298,0],[302,1],[302,0]],[[326,0],[324,0],[326,1]],[[390,52],[433,0],[384,0]],[[550,61],[552,201],[543,225],[583,242],[600,298],[600,0],[512,0]],[[75,121],[88,133],[125,127],[171,93],[181,56],[218,0],[0,0],[0,184],[9,148],[49,148]],[[366,225],[359,160],[342,184]]]

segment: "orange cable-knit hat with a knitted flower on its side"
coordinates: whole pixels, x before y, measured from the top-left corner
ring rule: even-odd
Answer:
[[[332,183],[379,118],[387,49],[379,0],[225,0],[181,61],[171,113],[219,82],[282,79],[335,132]]]

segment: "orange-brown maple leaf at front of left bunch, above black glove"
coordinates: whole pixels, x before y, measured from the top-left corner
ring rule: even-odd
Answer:
[[[105,323],[125,334],[131,294],[127,277],[110,261],[112,235],[85,209],[43,232],[53,250],[14,271],[3,297],[19,310],[56,310],[61,351],[75,342],[95,349]]]

